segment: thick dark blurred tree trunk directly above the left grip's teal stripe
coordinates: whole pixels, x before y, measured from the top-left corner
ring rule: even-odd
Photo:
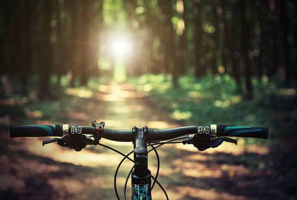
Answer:
[[[51,45],[51,16],[52,16],[52,1],[43,1],[43,22],[42,32],[46,36],[46,42],[43,43],[43,63],[39,64],[39,97],[50,97],[50,77],[52,69],[53,52]]]

